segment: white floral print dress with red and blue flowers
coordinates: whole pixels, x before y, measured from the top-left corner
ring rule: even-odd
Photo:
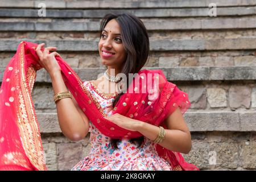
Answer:
[[[100,92],[92,81],[85,81],[86,89],[100,103],[104,113],[112,114],[113,96],[106,96]],[[100,131],[89,121],[90,144],[92,149],[88,156],[82,159],[72,171],[98,171],[98,170],[122,170],[122,171],[163,171],[172,170],[170,164],[158,156],[154,143],[144,137],[141,147],[122,139],[117,143],[118,149],[110,144],[110,138],[101,134]]]

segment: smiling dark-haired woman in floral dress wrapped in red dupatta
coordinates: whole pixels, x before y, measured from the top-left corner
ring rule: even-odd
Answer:
[[[131,14],[111,13],[102,19],[100,31],[98,50],[107,69],[97,80],[81,82],[59,53],[50,53],[55,47],[39,44],[35,49],[38,63],[52,80],[63,134],[79,141],[90,131],[90,154],[72,170],[197,170],[179,153],[191,150],[182,115],[190,106],[188,96],[161,71],[142,70],[149,54],[142,21]],[[129,73],[138,74],[129,80]],[[130,88],[136,79],[134,92],[117,92],[124,85]],[[156,97],[150,98],[150,89],[142,93],[148,86],[144,80],[154,83],[151,91]]]

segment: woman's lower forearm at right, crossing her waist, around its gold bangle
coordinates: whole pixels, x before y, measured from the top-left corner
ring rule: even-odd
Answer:
[[[138,121],[137,131],[150,140],[155,140],[158,137],[159,127],[146,122]],[[182,152],[187,154],[191,150],[191,135],[189,132],[181,130],[166,129],[165,139],[159,143],[160,146],[168,150]]]

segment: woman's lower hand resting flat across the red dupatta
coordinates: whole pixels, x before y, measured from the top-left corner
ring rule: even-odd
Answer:
[[[118,113],[110,115],[109,117],[106,117],[106,119],[115,123],[115,125],[118,125],[119,127],[122,127],[130,131],[138,131],[139,124],[142,122],[142,121],[125,117],[124,115],[121,115]]]

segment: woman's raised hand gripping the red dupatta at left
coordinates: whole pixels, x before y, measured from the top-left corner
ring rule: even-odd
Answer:
[[[36,47],[36,54],[39,57],[39,64],[46,69],[50,76],[53,76],[54,73],[61,71],[59,63],[57,63],[57,60],[55,59],[55,56],[60,55],[56,52],[56,47],[46,47],[44,48],[44,51],[41,51],[43,46],[44,43],[39,44],[38,47]],[[55,52],[50,53],[49,51]]]

